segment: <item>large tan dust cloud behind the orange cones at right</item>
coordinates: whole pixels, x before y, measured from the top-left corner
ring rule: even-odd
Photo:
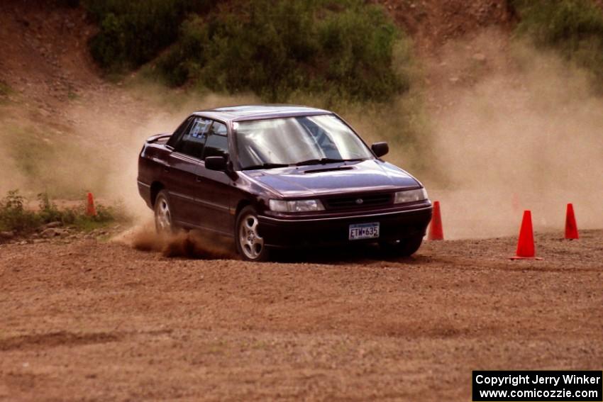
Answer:
[[[447,107],[436,115],[433,168],[441,177],[426,184],[441,201],[446,237],[516,235],[524,209],[535,230],[563,233],[566,203],[580,229],[602,228],[603,99],[585,72],[555,55],[503,45],[498,56],[455,52],[443,62],[448,71],[467,60],[481,68],[473,82],[450,79]],[[475,43],[465,50],[475,52]]]

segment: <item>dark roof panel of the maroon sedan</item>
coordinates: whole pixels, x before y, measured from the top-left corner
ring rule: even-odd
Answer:
[[[248,121],[265,118],[316,116],[331,113],[319,108],[297,105],[240,105],[206,109],[196,111],[193,114],[221,121]]]

